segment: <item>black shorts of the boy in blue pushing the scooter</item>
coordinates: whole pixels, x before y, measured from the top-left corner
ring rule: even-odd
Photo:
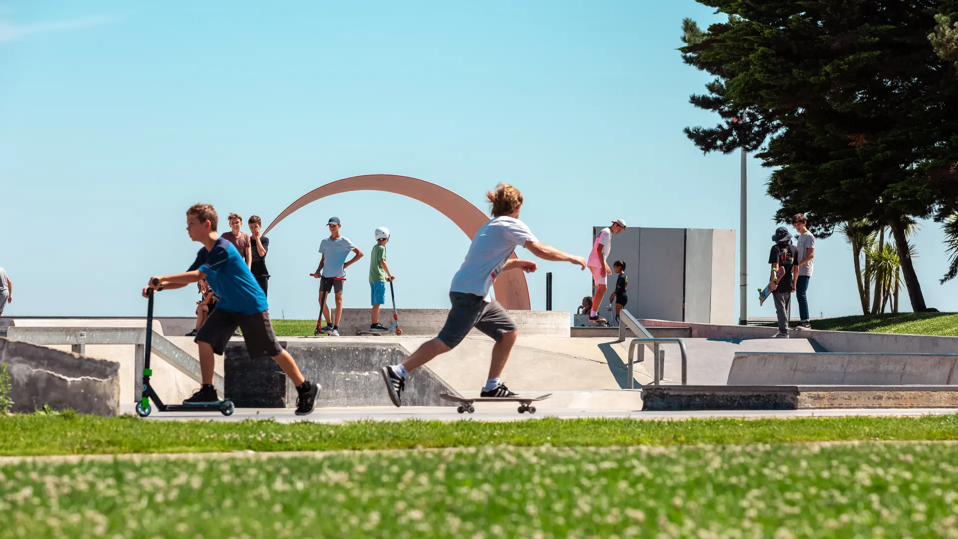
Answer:
[[[238,327],[242,330],[242,339],[246,341],[249,357],[272,358],[283,352],[283,347],[273,333],[273,324],[269,321],[268,311],[255,315],[240,315],[214,309],[203,322],[203,327],[196,332],[194,341],[206,342],[213,346],[215,353],[222,355],[223,350],[226,349],[226,343],[230,341]]]

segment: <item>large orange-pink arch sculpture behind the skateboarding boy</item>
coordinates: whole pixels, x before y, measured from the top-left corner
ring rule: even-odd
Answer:
[[[310,202],[351,191],[384,191],[417,199],[439,210],[452,223],[456,223],[469,240],[475,237],[480,226],[489,221],[489,217],[467,199],[435,183],[409,176],[376,174],[347,177],[313,189],[289,204],[283,213],[269,223],[262,235],[268,234],[274,226]],[[496,299],[506,309],[528,311],[531,308],[529,286],[526,284],[526,275],[522,271],[507,271],[500,274],[493,287]]]

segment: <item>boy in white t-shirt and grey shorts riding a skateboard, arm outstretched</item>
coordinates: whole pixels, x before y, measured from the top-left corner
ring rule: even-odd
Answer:
[[[585,269],[585,259],[581,256],[539,243],[529,227],[519,221],[522,194],[518,189],[508,183],[500,183],[494,191],[486,194],[486,198],[492,206],[492,219],[476,232],[466,260],[452,278],[449,287],[452,309],[445,318],[445,326],[439,332],[439,337],[423,343],[406,361],[382,367],[386,390],[396,406],[402,404],[402,391],[409,373],[455,348],[473,327],[495,340],[489,379],[482,388],[481,396],[517,397],[499,376],[509,360],[509,353],[519,332],[512,316],[491,298],[489,291],[492,282],[499,273],[510,269],[526,272],[536,270],[536,263],[531,260],[510,260],[516,246],[525,246],[543,260],[571,262]]]

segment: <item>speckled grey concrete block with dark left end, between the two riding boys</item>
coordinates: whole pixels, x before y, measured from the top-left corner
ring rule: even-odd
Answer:
[[[281,341],[303,376],[323,388],[317,407],[392,406],[379,369],[401,363],[409,352],[395,342],[345,341],[329,338]],[[276,362],[250,358],[246,346],[231,342],[223,354],[226,397],[237,408],[294,408],[296,387]],[[452,406],[440,393],[457,394],[428,367],[406,381],[404,406]]]

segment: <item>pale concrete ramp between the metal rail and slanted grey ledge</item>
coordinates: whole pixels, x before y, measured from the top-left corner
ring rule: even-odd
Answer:
[[[816,352],[821,350],[810,339],[683,339],[689,355],[688,383],[724,386],[736,353],[740,352]],[[667,384],[681,384],[682,363],[678,344],[663,344]],[[651,354],[646,354],[646,369],[652,370]],[[643,364],[643,363],[638,363]],[[636,367],[638,367],[638,364]]]

